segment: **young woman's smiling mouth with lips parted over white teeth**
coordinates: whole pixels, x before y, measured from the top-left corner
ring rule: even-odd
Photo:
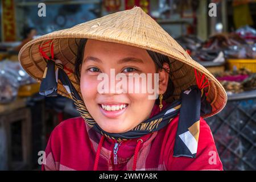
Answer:
[[[117,118],[127,109],[128,104],[99,104],[101,113],[108,118]]]

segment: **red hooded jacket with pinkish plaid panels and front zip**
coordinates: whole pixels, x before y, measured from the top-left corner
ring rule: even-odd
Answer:
[[[155,105],[150,117],[159,111]],[[179,115],[159,131],[119,144],[102,137],[82,117],[67,119],[51,133],[42,170],[223,170],[203,118],[196,158],[173,156],[178,120]]]

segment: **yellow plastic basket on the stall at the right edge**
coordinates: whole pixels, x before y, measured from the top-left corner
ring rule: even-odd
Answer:
[[[247,68],[251,72],[256,72],[256,59],[228,59],[228,64],[230,71]]]

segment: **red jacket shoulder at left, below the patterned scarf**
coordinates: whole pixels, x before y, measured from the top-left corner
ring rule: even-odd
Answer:
[[[45,151],[46,162],[42,169],[85,170],[86,168],[81,168],[84,167],[81,161],[90,159],[92,150],[84,119],[66,119],[53,129],[49,137]]]

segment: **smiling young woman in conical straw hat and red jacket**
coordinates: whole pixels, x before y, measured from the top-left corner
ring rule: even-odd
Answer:
[[[44,35],[19,60],[81,114],[52,131],[43,170],[222,170],[203,117],[225,90],[141,8]]]

